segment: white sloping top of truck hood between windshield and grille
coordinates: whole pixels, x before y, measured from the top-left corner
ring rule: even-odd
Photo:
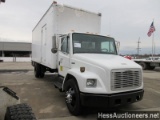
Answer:
[[[132,60],[119,55],[108,54],[74,54],[74,59],[100,66],[104,69],[140,68],[141,66]]]

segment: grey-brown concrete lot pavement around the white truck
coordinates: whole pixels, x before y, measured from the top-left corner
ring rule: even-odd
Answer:
[[[0,86],[17,93],[21,103],[28,103],[41,120],[96,120],[96,108],[87,108],[81,116],[72,116],[65,105],[64,93],[53,85],[55,74],[34,77],[30,63],[0,63]],[[121,111],[160,111],[160,68],[144,71],[144,98],[142,101],[114,109]]]

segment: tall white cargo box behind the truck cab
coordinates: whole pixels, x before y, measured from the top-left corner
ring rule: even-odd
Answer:
[[[51,52],[53,36],[79,33],[100,33],[101,14],[53,3],[32,34],[32,61],[56,69],[57,54]]]

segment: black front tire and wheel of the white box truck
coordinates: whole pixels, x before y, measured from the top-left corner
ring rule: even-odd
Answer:
[[[77,83],[74,79],[69,79],[65,83],[65,102],[71,114],[77,116],[81,114],[80,94]]]

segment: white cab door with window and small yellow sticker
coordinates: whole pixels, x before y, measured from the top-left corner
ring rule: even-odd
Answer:
[[[61,46],[58,51],[58,72],[65,77],[70,67],[70,40],[68,36],[61,37]]]

